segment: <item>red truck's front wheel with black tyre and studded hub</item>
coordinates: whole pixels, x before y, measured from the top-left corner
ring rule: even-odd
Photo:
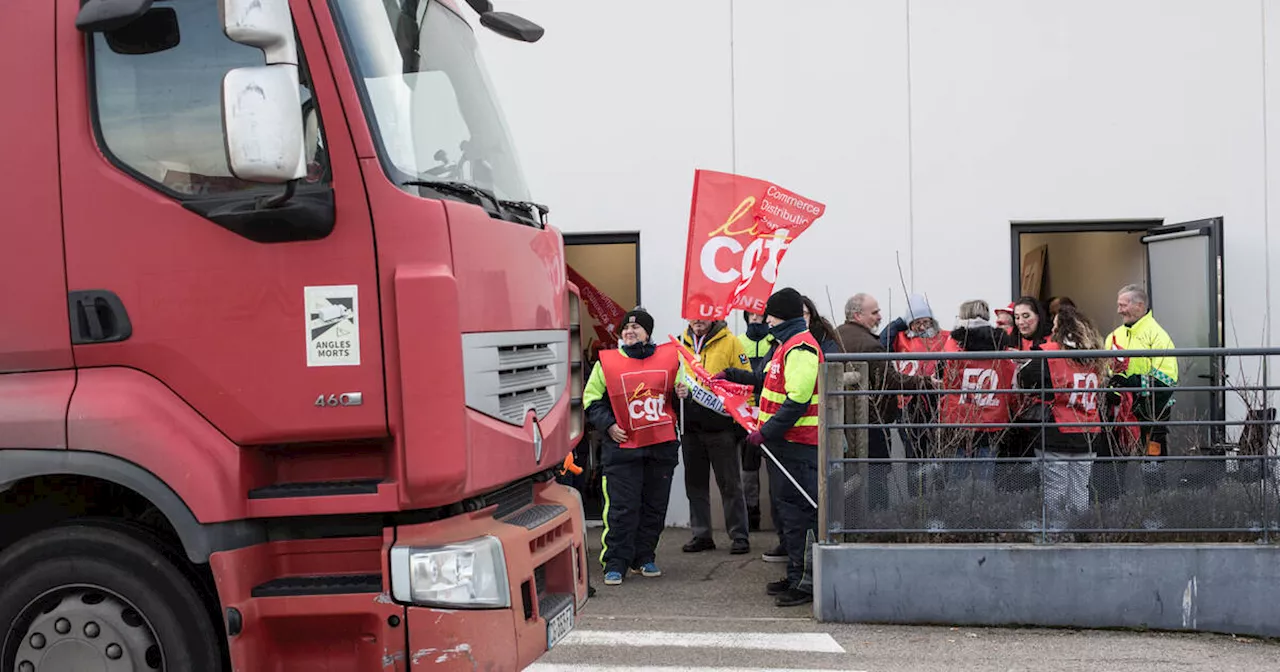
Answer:
[[[73,521],[0,553],[0,672],[221,669],[191,579],[148,532]]]

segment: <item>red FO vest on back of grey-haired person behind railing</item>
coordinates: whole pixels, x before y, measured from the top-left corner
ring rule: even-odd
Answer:
[[[960,343],[948,338],[946,352],[961,352]],[[984,390],[1012,389],[1018,370],[1011,360],[950,360],[942,369],[946,389],[965,390],[961,394],[943,394],[938,415],[943,422],[957,425],[1009,422],[1009,394]],[[972,392],[970,392],[972,390]],[[1004,431],[1005,428],[978,429],[977,431]]]

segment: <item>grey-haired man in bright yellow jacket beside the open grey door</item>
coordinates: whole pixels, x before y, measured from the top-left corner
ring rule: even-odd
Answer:
[[[1107,349],[1174,349],[1174,339],[1169,338],[1156,317],[1151,314],[1151,300],[1147,291],[1126,284],[1116,296],[1116,312],[1124,319],[1107,337]],[[1174,403],[1174,389],[1178,385],[1176,357],[1121,357],[1123,362],[1111,376],[1116,388],[1134,388],[1134,415],[1142,422],[1169,420]],[[1169,428],[1162,425],[1142,428],[1147,444],[1147,454],[1169,454]]]

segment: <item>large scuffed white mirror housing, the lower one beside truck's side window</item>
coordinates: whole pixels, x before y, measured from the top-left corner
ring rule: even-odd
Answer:
[[[236,68],[223,78],[227,166],[239,179],[279,184],[307,174],[297,65]]]

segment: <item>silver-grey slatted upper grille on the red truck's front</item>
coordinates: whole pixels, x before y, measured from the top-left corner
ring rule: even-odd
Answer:
[[[568,332],[462,334],[467,406],[524,426],[550,412],[568,380]]]

